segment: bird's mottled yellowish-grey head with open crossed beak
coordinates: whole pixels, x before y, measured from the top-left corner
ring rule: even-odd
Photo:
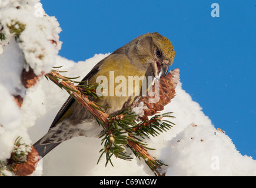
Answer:
[[[147,69],[147,75],[165,76],[174,62],[172,43],[157,32],[138,36],[124,47],[134,66]]]

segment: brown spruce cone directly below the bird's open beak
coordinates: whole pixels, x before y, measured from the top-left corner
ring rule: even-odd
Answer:
[[[170,71],[165,77],[161,76],[159,82],[155,82],[155,84],[159,85],[159,92],[155,91],[155,94],[159,93],[159,100],[155,103],[149,103],[149,99],[154,99],[155,96],[150,97],[150,93],[147,96],[142,96],[139,98],[134,105],[133,108],[139,106],[141,102],[144,103],[144,106],[147,106],[144,110],[144,115],[140,116],[139,119],[146,120],[148,116],[155,115],[158,111],[164,109],[164,106],[171,102],[171,99],[175,96],[175,88],[179,81],[179,69],[174,69]],[[153,91],[155,90],[155,85],[153,86]]]

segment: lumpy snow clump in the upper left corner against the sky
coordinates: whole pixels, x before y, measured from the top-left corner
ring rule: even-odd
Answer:
[[[4,41],[1,41],[2,45],[8,46],[9,40],[14,38],[11,26],[21,30],[24,26],[24,31],[16,40],[21,41],[18,46],[22,49],[26,59],[25,68],[28,70],[28,66],[30,66],[36,75],[51,70],[52,62],[55,62],[54,58],[61,49],[58,36],[61,28],[59,28],[56,18],[46,15],[41,6],[36,6],[39,4],[39,1],[35,0],[6,0],[0,4],[3,7],[0,14],[0,28],[4,28],[6,37]],[[39,10],[42,11],[42,14],[36,15]]]

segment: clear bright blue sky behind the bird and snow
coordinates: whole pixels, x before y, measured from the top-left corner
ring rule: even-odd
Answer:
[[[41,0],[62,28],[59,55],[85,61],[139,35],[159,32],[174,46],[171,69],[215,127],[256,159],[256,1]],[[220,5],[220,17],[211,5]]]

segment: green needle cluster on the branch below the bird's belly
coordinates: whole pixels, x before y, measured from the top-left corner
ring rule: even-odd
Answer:
[[[147,157],[142,156],[141,153],[135,151],[134,148],[128,145],[127,140],[131,140],[134,143],[137,143],[139,146],[147,150],[155,150],[151,147],[148,147],[147,143],[144,141],[142,136],[158,136],[162,132],[171,129],[174,123],[169,120],[165,120],[164,117],[174,117],[170,115],[171,113],[164,113],[162,115],[155,115],[151,117],[150,120],[145,120],[137,122],[138,115],[135,115],[130,108],[124,109],[119,112],[116,116],[109,115],[109,125],[108,129],[104,126],[105,132],[101,135],[102,143],[104,143],[104,148],[99,152],[99,160],[101,160],[102,155],[106,155],[106,163],[113,163],[111,161],[111,156],[115,156],[123,160],[131,160],[131,153],[127,153],[125,148],[129,148],[134,153],[135,157],[138,159],[142,158],[145,160],[145,163],[149,168],[154,171],[156,174],[159,173],[156,166],[166,165],[159,160],[148,160]],[[122,115],[122,116],[121,116]],[[97,162],[97,164],[98,164]]]

